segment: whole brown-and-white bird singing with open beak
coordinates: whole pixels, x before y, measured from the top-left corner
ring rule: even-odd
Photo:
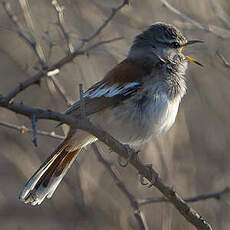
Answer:
[[[84,92],[85,115],[97,127],[130,146],[140,146],[173,125],[186,93],[187,40],[174,25],[154,23],[137,35],[127,57]],[[81,116],[80,99],[65,114]],[[20,193],[24,203],[39,205],[51,198],[82,148],[97,138],[71,128],[66,138],[28,180]]]

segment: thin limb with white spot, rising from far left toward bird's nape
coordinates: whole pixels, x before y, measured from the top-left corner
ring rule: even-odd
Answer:
[[[24,82],[20,83],[15,89],[10,91],[8,93],[8,95],[4,98],[6,100],[5,102],[7,103],[7,102],[11,101],[18,93],[20,93],[21,91],[23,91],[27,87],[39,82],[44,76],[49,74],[50,71],[54,71],[56,69],[59,70],[65,64],[72,62],[75,57],[87,54],[91,50],[95,49],[98,46],[105,45],[105,44],[108,44],[108,43],[111,43],[111,42],[114,42],[114,41],[118,41],[118,40],[121,40],[121,39],[122,39],[121,37],[118,37],[118,38],[113,38],[113,39],[110,39],[110,40],[101,41],[101,42],[93,44],[93,45],[91,45],[91,46],[89,46],[89,47],[87,47],[85,49],[76,50],[71,55],[67,55],[67,56],[61,58],[59,61],[57,61],[55,64],[51,65],[47,69],[43,69],[42,71],[36,73],[35,75],[33,75],[32,77],[28,78]]]

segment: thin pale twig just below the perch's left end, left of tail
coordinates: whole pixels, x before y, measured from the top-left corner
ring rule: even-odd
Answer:
[[[21,126],[15,125],[15,124],[11,124],[5,121],[0,121],[0,126],[17,130],[20,133],[32,133],[33,132],[32,129],[27,128],[24,125],[21,125]],[[54,132],[46,132],[46,131],[41,131],[41,130],[37,130],[37,134],[41,136],[52,137],[52,138],[59,139],[59,140],[63,140],[65,138],[64,136],[57,135]]]

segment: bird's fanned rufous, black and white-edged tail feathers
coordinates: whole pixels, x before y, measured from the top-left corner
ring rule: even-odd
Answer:
[[[19,199],[24,203],[39,205],[46,197],[51,198],[80,150],[69,151],[65,143],[59,145],[27,182]]]

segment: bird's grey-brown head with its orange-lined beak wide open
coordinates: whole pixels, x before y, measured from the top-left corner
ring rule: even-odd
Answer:
[[[150,57],[161,61],[193,62],[201,65],[197,60],[184,56],[183,48],[192,44],[201,43],[201,40],[187,40],[175,27],[165,23],[156,23],[137,35],[130,49],[129,56]],[[179,57],[179,58],[178,58]]]

